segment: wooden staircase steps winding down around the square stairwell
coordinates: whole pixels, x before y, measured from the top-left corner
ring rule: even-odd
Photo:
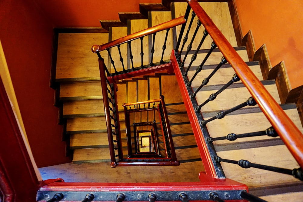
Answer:
[[[274,80],[263,81],[258,61],[249,61],[245,47],[236,47],[235,35],[229,18],[228,6],[226,2],[202,2],[200,5],[213,19],[220,31],[226,36],[231,45],[246,62],[251,71],[262,82],[265,88],[270,92],[275,101],[280,103],[279,95]],[[158,25],[173,18],[184,15],[186,3],[175,2],[171,6],[171,11],[150,11],[148,19],[128,20],[127,26],[109,27],[108,33],[77,33],[60,34],[58,42],[56,82],[60,83],[59,101],[63,102],[62,118],[66,120],[65,136],[69,137],[69,149],[73,151],[73,163],[91,163],[91,162],[110,162],[108,152],[107,128],[105,122],[105,112],[103,105],[102,89],[100,85],[100,74],[96,55],[90,50],[93,44],[105,44],[108,41],[121,38],[125,35],[135,33],[142,29]],[[214,9],[214,8],[221,9]],[[223,19],[216,18],[222,16]],[[190,19],[190,18],[189,18]],[[196,23],[195,18],[194,23]],[[102,22],[105,23],[105,22]],[[188,25],[188,24],[187,24]],[[104,26],[105,27],[105,26]],[[195,27],[195,26],[194,26]],[[168,60],[171,50],[177,43],[178,34],[181,26],[176,30],[168,32],[166,49],[163,60]],[[187,29],[187,28],[186,28]],[[186,30],[185,29],[185,30]],[[201,26],[200,31],[204,28]],[[191,28],[189,36],[194,33]],[[155,55],[153,61],[161,60],[161,52],[165,32],[157,34],[155,38]],[[199,39],[201,37],[198,37]],[[145,37],[144,47],[145,58],[144,65],[149,64],[150,49],[152,46],[152,36]],[[190,59],[197,49],[200,41],[193,41],[191,51],[187,58]],[[200,65],[201,60],[207,55],[212,40],[210,37],[205,42],[197,54],[197,59],[191,64],[188,70],[188,79],[190,80]],[[72,49],[70,48],[72,47]],[[185,49],[187,44],[185,46]],[[132,67],[129,59],[127,44],[120,47],[122,58],[126,69]],[[185,50],[186,51],[186,50]],[[185,51],[182,52],[181,60],[184,61]],[[139,40],[132,42],[132,55],[140,55]],[[110,54],[110,55],[109,55]],[[115,72],[110,57],[115,61],[117,71],[122,71],[120,64],[120,54],[112,49],[109,54],[102,52],[102,58],[105,59],[111,73]],[[191,83],[193,92],[195,92],[201,81],[213,71],[220,62],[222,54],[215,49],[211,57],[205,62],[203,69]],[[128,59],[127,59],[128,58]],[[190,60],[185,60],[184,68],[189,65]],[[133,65],[139,67],[141,58],[134,57]],[[177,74],[177,73],[175,73]],[[192,130],[192,118],[188,118],[186,108],[187,97],[180,92],[180,80],[174,73],[167,71],[152,73],[132,79],[122,79],[117,83],[117,100],[119,108],[120,129],[122,131],[123,154],[127,154],[125,119],[122,103],[138,102],[151,99],[158,99],[164,95],[165,104],[168,111],[168,118],[171,126],[173,141],[177,159],[185,168],[197,165],[201,166],[201,150],[198,150],[197,142]],[[196,94],[197,103],[203,103],[210,94],[218,91],[224,84],[231,80],[235,74],[230,65],[224,64],[215,73],[216,77],[211,78],[209,83],[201,88]],[[177,79],[178,78],[178,79]],[[183,81],[184,82],[184,81]],[[228,110],[234,106],[246,101],[250,93],[241,83],[235,82],[225,91],[223,91],[214,101],[201,108],[201,114],[205,120],[216,116],[219,111]],[[302,125],[298,116],[295,104],[281,104],[286,114],[303,132]],[[142,118],[142,117],[141,117]],[[158,120],[156,120],[158,123]],[[63,121],[64,123],[64,121]],[[217,119],[207,123],[207,130],[212,138],[226,136],[229,133],[243,134],[255,131],[262,131],[270,127],[260,108],[257,106],[248,106],[228,114],[224,119]],[[240,160],[246,159],[253,163],[260,163],[276,167],[285,167],[289,169],[297,168],[299,165],[292,157],[288,149],[279,137],[247,137],[239,138],[235,143],[228,140],[213,141],[217,155],[224,159]],[[200,153],[199,153],[200,152]],[[276,155],[273,154],[283,154]],[[283,201],[285,198],[292,197],[294,201],[300,200],[302,194],[302,183],[292,176],[285,174],[276,174],[270,171],[258,170],[255,168],[243,169],[237,165],[221,162],[221,166],[227,178],[246,184],[250,193],[269,201]],[[200,170],[203,170],[201,167]],[[293,187],[282,189],[281,187]]]

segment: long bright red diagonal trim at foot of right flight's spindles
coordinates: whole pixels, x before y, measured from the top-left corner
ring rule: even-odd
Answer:
[[[188,113],[189,121],[191,123],[191,127],[192,127],[192,130],[193,130],[194,135],[195,135],[195,139],[196,139],[196,142],[197,142],[197,145],[198,145],[198,149],[199,149],[199,152],[200,152],[200,156],[201,156],[206,174],[217,178],[218,176],[216,174],[216,168],[212,164],[211,155],[209,154],[208,150],[206,149],[207,148],[206,142],[204,140],[204,137],[203,137],[203,134],[202,134],[202,131],[201,131],[201,128],[200,128],[200,124],[199,124],[198,119],[196,117],[194,107],[192,106],[191,99],[190,99],[188,91],[187,91],[187,87],[186,87],[186,85],[183,81],[183,75],[180,71],[177,58],[175,57],[175,51],[174,50],[172,50],[172,52],[171,52],[170,60],[171,60],[172,66],[174,67],[174,70],[175,70],[175,75],[177,77],[177,81],[178,81],[178,84],[179,84],[179,87],[180,87],[180,91],[181,91],[181,94],[182,94],[184,105],[185,105],[186,111]]]

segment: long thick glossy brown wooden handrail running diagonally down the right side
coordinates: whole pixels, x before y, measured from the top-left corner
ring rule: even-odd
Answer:
[[[254,73],[230,45],[221,31],[217,28],[211,18],[198,4],[197,0],[187,0],[208,34],[214,40],[225,59],[234,68],[242,83],[255,98],[268,121],[275,128],[288,150],[296,161],[303,167],[303,135],[295,124],[288,118],[279,104],[269,94]]]

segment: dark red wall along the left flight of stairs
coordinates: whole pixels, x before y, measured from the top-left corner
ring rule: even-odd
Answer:
[[[33,156],[44,167],[68,158],[49,88],[53,25],[29,2],[0,1],[0,39]]]

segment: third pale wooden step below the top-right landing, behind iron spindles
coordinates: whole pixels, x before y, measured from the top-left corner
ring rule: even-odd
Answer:
[[[275,81],[272,80],[266,80],[262,82],[266,90],[271,94],[271,96],[275,99],[275,101],[278,102],[278,104],[281,104],[277,86],[275,84]],[[239,86],[239,85],[238,85]],[[213,86],[215,87],[215,86]],[[251,94],[247,90],[247,88],[242,85],[240,88],[231,88],[225,89],[223,92],[221,92],[217,98],[213,101],[208,102],[205,104],[201,111],[216,111],[216,110],[227,110],[230,108],[233,108],[237,106],[238,104],[241,104],[245,102],[249,97],[251,97]],[[208,99],[209,95],[212,93],[217,92],[218,90],[208,90],[208,91],[199,91],[196,95],[197,102],[203,103],[205,100]],[[248,106],[249,107],[249,106]]]

